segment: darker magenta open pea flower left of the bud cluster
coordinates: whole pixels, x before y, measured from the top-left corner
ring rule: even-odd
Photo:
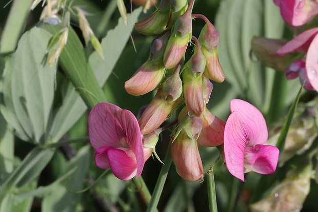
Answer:
[[[90,143],[96,150],[96,166],[111,168],[122,180],[141,175],[150,155],[145,159],[143,135],[130,111],[111,103],[98,103],[89,114],[88,130]]]

